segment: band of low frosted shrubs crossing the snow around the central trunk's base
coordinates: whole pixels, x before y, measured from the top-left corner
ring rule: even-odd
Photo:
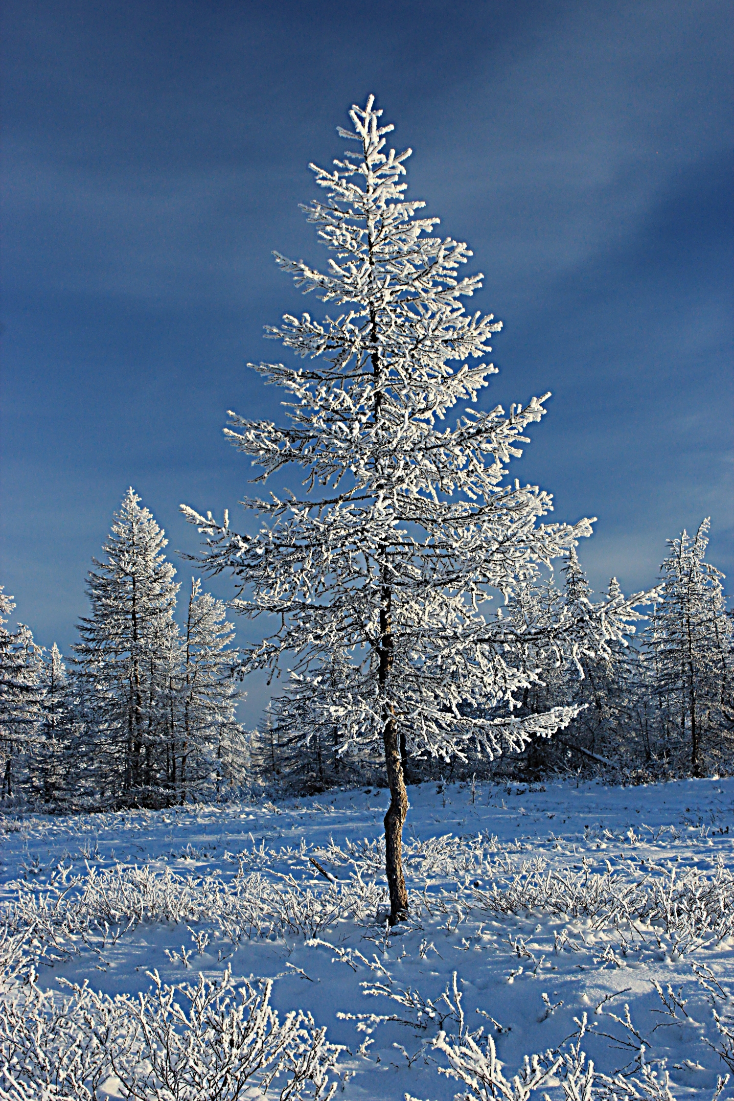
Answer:
[[[34,957],[53,962],[76,955],[83,945],[103,951],[143,920],[201,924],[211,940],[222,938],[235,947],[253,938],[310,939],[342,920],[372,924],[386,902],[386,890],[384,881],[365,881],[362,875],[381,875],[384,841],[302,849],[293,855],[306,865],[309,852],[316,851],[332,866],[347,865],[350,877],[304,880],[292,873],[248,871],[253,863],[272,866],[277,859],[272,850],[240,854],[240,873],[231,882],[177,875],[168,869],[157,872],[147,865],[91,869],[86,876],[62,869],[41,890],[19,886],[15,903],[6,911],[7,936],[22,938],[32,929]],[[723,863],[713,872],[650,866],[647,874],[631,881],[612,870],[555,871],[540,859],[497,860],[495,853],[493,838],[447,836],[408,842],[406,865],[414,880],[439,877],[457,884],[452,890],[412,893],[416,915],[533,911],[589,918],[594,929],[622,931],[634,922],[637,939],[675,956],[721,944],[734,933],[734,875]],[[484,885],[474,886],[475,882]],[[0,941],[0,962],[2,951]]]

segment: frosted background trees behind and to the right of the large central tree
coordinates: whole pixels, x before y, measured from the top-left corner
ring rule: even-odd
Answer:
[[[550,775],[604,773],[642,783],[734,771],[734,620],[726,610],[724,575],[705,560],[709,521],[691,538],[668,543],[660,585],[642,629],[599,653],[584,645],[583,625],[593,593],[572,550],[554,577],[521,593],[511,621],[528,636],[525,668],[543,668],[523,691],[518,717],[558,705],[581,707],[569,726],[535,738],[518,755],[490,759],[479,752],[441,760],[406,756],[408,783],[478,777],[541,781]],[[605,600],[618,593],[612,578]],[[576,624],[566,655],[555,655],[552,624]],[[589,615],[589,619],[591,617]],[[541,652],[544,651],[544,652]],[[570,656],[569,656],[570,655]],[[340,754],[332,717],[338,668],[322,679],[295,679],[274,698],[253,734],[253,767],[284,792],[319,792],[341,784],[382,783],[382,761]],[[529,677],[528,677],[529,679]]]

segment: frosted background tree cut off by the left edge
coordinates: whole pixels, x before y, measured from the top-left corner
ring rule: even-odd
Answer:
[[[22,768],[35,740],[40,719],[39,665],[41,650],[23,623],[9,631],[7,617],[15,608],[0,586],[0,772],[2,796],[15,794]]]

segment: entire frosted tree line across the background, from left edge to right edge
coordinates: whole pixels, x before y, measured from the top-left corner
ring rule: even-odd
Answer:
[[[527,686],[518,719],[571,707],[552,737],[519,754],[490,756],[469,744],[450,757],[402,749],[408,783],[603,772],[626,782],[734,770],[734,622],[723,574],[705,560],[709,521],[669,541],[660,584],[642,629],[600,647],[599,604],[576,550],[501,609],[522,645]],[[165,806],[242,786],[287,795],[383,784],[379,746],[343,745],[343,655],[309,676],[293,675],[259,729],[237,719],[240,651],[221,600],[193,579],[186,618],[166,541],[129,490],[87,579],[90,611],[64,661],[37,646],[30,628],[9,631],[14,604],[0,590],[0,776],[4,800],[48,809]],[[622,600],[613,578],[602,606]],[[628,614],[628,613],[627,613]],[[555,625],[567,624],[563,646]],[[587,640],[587,624],[593,637]],[[570,632],[570,633],[569,633]],[[543,675],[538,672],[541,669]],[[471,718],[481,701],[462,705]],[[491,716],[487,701],[484,713]]]

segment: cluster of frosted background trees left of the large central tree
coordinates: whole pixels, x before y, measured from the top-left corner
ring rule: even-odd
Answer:
[[[163,806],[248,774],[238,651],[226,607],[191,581],[183,626],[166,539],[124,497],[87,579],[89,614],[65,662],[28,626],[0,625],[4,799],[46,807]],[[14,608],[0,590],[0,612]]]

